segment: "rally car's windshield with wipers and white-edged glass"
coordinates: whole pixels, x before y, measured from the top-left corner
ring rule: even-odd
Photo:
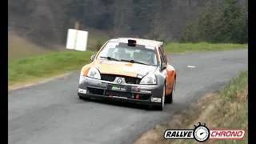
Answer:
[[[108,42],[98,54],[97,59],[106,58],[150,66],[158,66],[158,59],[154,46],[128,46],[127,43]]]

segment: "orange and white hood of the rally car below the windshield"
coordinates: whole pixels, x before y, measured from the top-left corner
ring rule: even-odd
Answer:
[[[118,74],[130,77],[143,77],[148,73],[153,73],[157,66],[146,66],[138,63],[118,62],[110,60],[94,60],[93,66],[101,74]]]

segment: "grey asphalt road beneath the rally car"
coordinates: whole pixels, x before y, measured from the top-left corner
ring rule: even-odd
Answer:
[[[119,102],[82,101],[78,74],[10,91],[8,142],[26,144],[118,144],[134,138],[208,92],[220,89],[248,66],[248,50],[168,57],[177,70],[174,103],[153,111]],[[195,66],[195,67],[187,67]]]

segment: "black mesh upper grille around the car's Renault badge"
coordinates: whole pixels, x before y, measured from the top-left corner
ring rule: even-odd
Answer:
[[[122,77],[125,78],[126,83],[128,84],[139,84],[141,82],[141,78],[134,78],[134,77],[128,77],[128,76],[122,76],[122,75],[115,75],[115,74],[101,74],[101,78],[104,81],[114,82],[114,79],[116,77]]]

